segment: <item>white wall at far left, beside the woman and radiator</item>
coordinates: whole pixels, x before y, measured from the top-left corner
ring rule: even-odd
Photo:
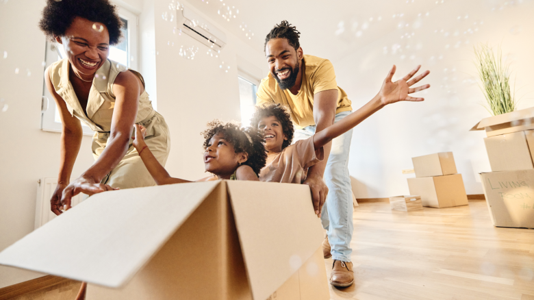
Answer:
[[[58,176],[60,134],[40,129],[45,38],[37,23],[44,3],[0,4],[0,250],[34,229],[38,179]],[[4,103],[9,107],[1,112]],[[84,136],[73,176],[92,164],[90,142],[90,136]],[[0,288],[38,276],[0,266]]]

